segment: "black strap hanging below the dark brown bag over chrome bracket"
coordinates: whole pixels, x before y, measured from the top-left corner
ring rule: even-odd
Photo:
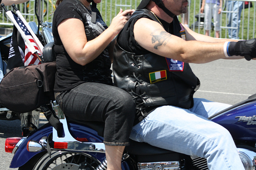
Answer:
[[[63,125],[60,122],[60,119],[57,117],[54,109],[50,104],[40,106],[41,111],[44,113],[44,116],[49,121],[49,123],[57,131],[58,137],[64,137]]]

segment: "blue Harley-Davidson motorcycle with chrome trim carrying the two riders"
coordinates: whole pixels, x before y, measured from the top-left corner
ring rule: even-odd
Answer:
[[[232,135],[246,170],[256,169],[256,94],[216,113],[210,120]],[[14,153],[10,168],[19,170],[106,170],[103,125],[97,122],[67,120],[56,102],[48,105],[58,115],[62,128],[51,123],[32,131],[27,137],[6,139],[6,152]],[[42,110],[41,110],[42,111]],[[49,110],[43,110],[49,111]],[[205,158],[130,141],[122,158],[123,170],[207,170]]]

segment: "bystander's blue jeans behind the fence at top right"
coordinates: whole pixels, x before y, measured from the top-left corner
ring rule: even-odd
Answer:
[[[239,27],[241,22],[241,12],[243,1],[227,1],[227,10],[234,13],[228,13],[228,27],[237,27],[237,29],[228,29],[228,36],[231,39],[239,39]]]

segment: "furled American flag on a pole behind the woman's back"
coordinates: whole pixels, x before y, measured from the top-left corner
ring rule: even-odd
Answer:
[[[11,13],[10,13],[11,12]],[[34,37],[31,35],[30,31],[24,24],[24,22],[12,11],[6,12],[6,14],[10,17],[20,34],[22,35],[22,38],[24,39],[25,43],[25,58],[24,58],[24,65],[30,65],[30,64],[41,64],[39,59],[37,58],[38,55],[42,55],[42,50],[36,43]],[[23,32],[23,33],[22,33]]]

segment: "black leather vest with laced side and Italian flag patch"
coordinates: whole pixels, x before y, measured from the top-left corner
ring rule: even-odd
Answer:
[[[159,22],[148,10],[136,10],[130,20],[135,15],[146,15]],[[176,27],[178,24],[181,29],[177,18],[174,22]],[[175,35],[182,37],[184,33],[183,31]],[[176,66],[178,68],[175,68]],[[114,84],[128,91],[134,99],[140,98],[145,107],[172,105],[191,108],[193,94],[200,85],[188,63],[167,59],[150,52],[135,55],[123,50],[118,45],[118,41],[114,46],[113,71]]]

